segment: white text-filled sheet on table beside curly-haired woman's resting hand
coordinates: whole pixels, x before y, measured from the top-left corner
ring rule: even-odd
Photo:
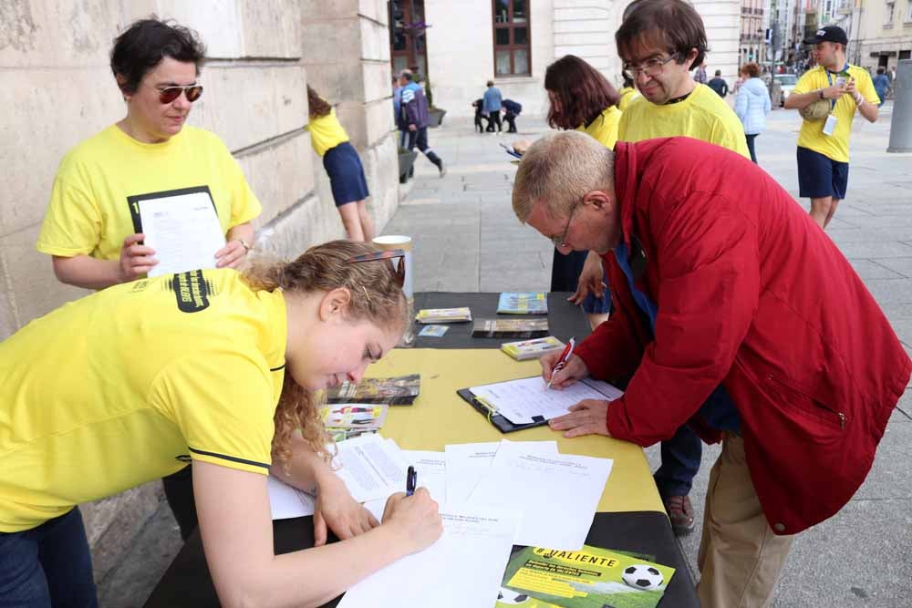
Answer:
[[[333,464],[341,465],[336,474],[345,482],[353,499],[358,502],[386,499],[393,492],[405,491],[409,465],[395,443],[390,445],[371,433],[336,445],[338,454]]]

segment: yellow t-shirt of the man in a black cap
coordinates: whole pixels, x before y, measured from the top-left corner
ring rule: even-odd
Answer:
[[[855,78],[855,89],[868,103],[879,104],[880,98],[871,81],[871,75],[863,67],[849,66],[849,76]],[[836,76],[830,76],[833,84]],[[830,81],[826,77],[823,66],[814,67],[798,78],[793,93],[810,93],[818,88],[827,88]],[[844,95],[837,99],[832,113],[836,117],[836,129],[833,135],[824,135],[824,120],[803,120],[801,132],[798,134],[798,145],[802,148],[813,149],[825,157],[837,162],[849,161],[849,134],[852,132],[852,120],[855,119],[855,99],[851,95]]]

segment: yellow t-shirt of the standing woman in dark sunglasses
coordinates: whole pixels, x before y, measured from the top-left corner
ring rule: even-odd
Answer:
[[[197,188],[209,191],[225,233],[262,211],[244,172],[215,134],[184,127],[171,139],[150,144],[111,125],[60,162],[37,250],[117,260],[123,240],[142,232],[134,197]]]

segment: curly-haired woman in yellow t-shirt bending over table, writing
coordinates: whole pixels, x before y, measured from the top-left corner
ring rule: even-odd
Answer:
[[[76,505],[185,459],[224,605],[324,603],[440,537],[426,489],[382,523],[352,500],[318,414],[409,323],[403,255],[336,241],[118,285],[0,343],[0,603],[98,605]],[[269,472],[316,489],[315,548],[275,555]],[[343,540],[320,546],[327,527]]]

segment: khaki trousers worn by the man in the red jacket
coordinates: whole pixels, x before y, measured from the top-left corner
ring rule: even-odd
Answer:
[[[744,458],[744,439],[725,433],[710,471],[697,557],[702,608],[765,606],[793,539],[772,533]]]

